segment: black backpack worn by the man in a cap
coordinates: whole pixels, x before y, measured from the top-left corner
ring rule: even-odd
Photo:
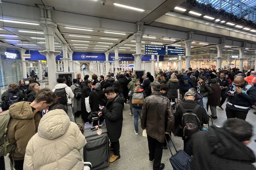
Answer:
[[[182,120],[181,120],[182,128],[183,128],[182,139],[190,139],[190,137],[194,133],[202,130],[202,125],[196,114],[200,105],[197,105],[192,110],[184,109],[182,104],[180,104],[179,106],[182,111]]]

